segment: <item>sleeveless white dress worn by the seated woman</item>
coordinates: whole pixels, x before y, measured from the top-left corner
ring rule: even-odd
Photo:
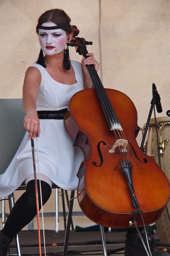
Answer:
[[[71,97],[83,90],[82,68],[79,62],[71,61],[74,68],[76,83],[61,84],[48,74],[39,64],[37,67],[42,76],[36,101],[37,111],[57,111],[68,108]],[[40,119],[40,137],[34,140],[36,172],[38,172],[37,144],[39,151],[40,173],[48,176],[52,182],[66,190],[75,190],[78,185],[77,172],[84,154],[74,146],[67,134],[61,119]],[[0,175],[0,198],[10,195],[20,184],[34,172],[31,142],[28,132],[15,154],[10,165]]]

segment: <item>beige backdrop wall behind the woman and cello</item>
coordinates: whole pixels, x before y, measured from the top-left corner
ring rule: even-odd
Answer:
[[[150,110],[153,83],[163,108],[156,116],[166,116],[170,109],[170,0],[0,0],[0,98],[22,97],[25,71],[40,51],[37,19],[51,8],[64,9],[71,24],[79,28],[79,36],[93,41],[88,51],[100,61],[104,86],[132,99],[140,127]],[[71,58],[81,60],[74,49]],[[48,204],[53,211],[53,201]]]

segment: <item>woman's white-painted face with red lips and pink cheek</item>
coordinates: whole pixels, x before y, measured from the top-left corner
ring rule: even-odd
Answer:
[[[53,22],[42,23],[42,26],[57,26]],[[59,54],[65,49],[68,35],[62,29],[39,29],[39,41],[42,51],[46,55]],[[57,49],[57,51],[55,51]]]

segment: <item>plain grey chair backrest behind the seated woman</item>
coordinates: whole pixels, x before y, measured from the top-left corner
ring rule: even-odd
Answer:
[[[24,116],[22,99],[0,99],[0,174],[7,169],[23,139]]]

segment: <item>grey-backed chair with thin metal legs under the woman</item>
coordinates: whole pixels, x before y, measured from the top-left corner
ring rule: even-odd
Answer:
[[[23,136],[25,134],[25,130],[23,128],[23,118],[25,113],[22,108],[22,99],[0,99],[0,174],[3,174],[9,163],[14,157]],[[59,186],[53,184],[52,188],[56,189],[56,231],[59,230],[59,222],[58,222],[58,189]],[[23,190],[26,189],[25,184],[21,184],[21,186],[16,190]],[[70,227],[73,227],[72,222],[72,211],[73,211],[73,202],[74,202],[74,191],[71,191],[71,201],[68,202],[68,195],[66,192],[66,200],[69,204],[68,209],[68,222],[66,227],[66,218],[65,218],[65,204],[62,198],[62,206],[63,206],[63,216],[64,216],[64,224],[65,224],[65,243],[64,243],[64,250],[63,256],[67,255],[68,249],[68,239],[69,239],[69,232]],[[63,189],[62,189],[63,195]],[[14,194],[12,193],[8,197],[10,202],[10,209],[14,206]],[[4,201],[2,201],[2,222],[5,222],[5,212],[4,212]],[[102,246],[103,246],[103,253],[107,256],[106,246],[105,246],[105,237],[104,237],[104,229],[100,226],[100,233],[102,238]],[[20,242],[19,236],[15,237],[16,245],[17,245],[17,255],[21,256],[20,254]]]

